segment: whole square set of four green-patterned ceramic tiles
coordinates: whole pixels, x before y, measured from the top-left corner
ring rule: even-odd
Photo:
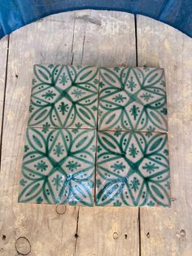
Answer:
[[[35,65],[20,202],[170,205],[164,69]]]

